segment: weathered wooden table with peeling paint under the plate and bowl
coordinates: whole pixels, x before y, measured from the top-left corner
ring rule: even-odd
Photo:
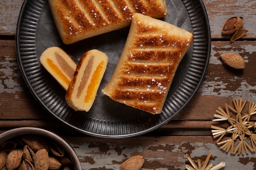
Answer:
[[[90,137],[63,125],[46,113],[30,93],[21,75],[16,55],[16,22],[23,0],[2,0],[0,5],[0,133],[18,127],[39,127],[61,135],[75,150],[84,170],[117,170],[133,155],[146,159],[143,169],[184,170],[189,154],[203,162],[212,151],[210,163],[224,161],[223,170],[254,169],[254,152],[233,155],[216,144],[211,133],[216,109],[243,98],[256,102],[256,2],[255,0],[203,0],[211,28],[211,57],[204,81],[189,105],[168,124],[139,137],[105,139]],[[232,16],[243,17],[249,32],[236,42],[221,34]],[[245,69],[225,65],[219,55],[237,53]],[[255,121],[255,117],[251,118]],[[217,123],[218,124],[218,123]],[[221,126],[221,124],[218,124]]]

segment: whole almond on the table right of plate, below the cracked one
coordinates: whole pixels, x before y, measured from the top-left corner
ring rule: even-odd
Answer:
[[[243,69],[245,68],[245,60],[241,55],[234,54],[234,53],[223,53],[220,55],[223,62],[227,65],[236,68],[236,69]]]

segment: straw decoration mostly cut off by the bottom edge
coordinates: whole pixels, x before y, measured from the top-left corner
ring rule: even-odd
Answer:
[[[213,166],[212,163],[209,163],[209,159],[211,158],[211,151],[208,153],[203,165],[201,163],[201,160],[198,159],[198,166],[193,162],[193,160],[191,159],[191,157],[186,154],[186,158],[189,160],[189,162],[191,163],[191,165],[186,165],[186,169],[187,170],[219,170],[220,168],[225,167],[225,162],[221,162],[216,166]]]

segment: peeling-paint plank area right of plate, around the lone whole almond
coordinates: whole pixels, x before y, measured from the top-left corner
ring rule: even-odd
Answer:
[[[208,73],[200,88],[202,95],[232,97],[233,99],[256,99],[256,42],[230,44],[213,42]],[[241,44],[241,43],[239,43]],[[236,53],[245,59],[245,69],[239,70],[227,66],[221,59],[221,53]],[[252,76],[255,75],[255,76]]]

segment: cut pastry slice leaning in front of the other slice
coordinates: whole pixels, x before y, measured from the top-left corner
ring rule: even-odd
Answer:
[[[107,64],[108,57],[98,50],[90,50],[81,57],[65,95],[70,107],[74,110],[90,110]]]

